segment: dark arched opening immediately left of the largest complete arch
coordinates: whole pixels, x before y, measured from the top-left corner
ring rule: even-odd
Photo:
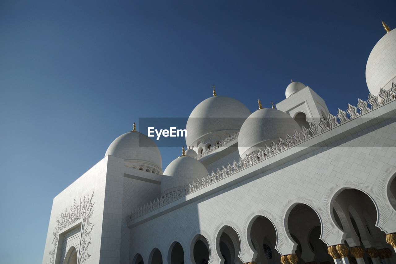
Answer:
[[[303,203],[294,205],[287,216],[287,230],[297,243],[298,264],[333,261],[327,254],[327,245],[320,240],[321,222],[312,207]]]

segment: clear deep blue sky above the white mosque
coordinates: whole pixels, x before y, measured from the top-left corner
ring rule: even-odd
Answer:
[[[395,1],[0,2],[3,263],[41,263],[52,199],[139,117],[218,95],[251,111],[290,79],[331,113],[366,99],[367,57]],[[163,167],[180,149],[160,149]]]

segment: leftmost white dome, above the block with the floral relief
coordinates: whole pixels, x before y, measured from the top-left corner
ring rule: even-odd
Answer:
[[[162,174],[161,153],[154,141],[145,134],[131,131],[116,138],[106,151],[105,157],[112,155],[125,160],[125,166],[154,169]]]

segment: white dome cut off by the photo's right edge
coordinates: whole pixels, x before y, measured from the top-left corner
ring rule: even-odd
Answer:
[[[366,82],[371,94],[388,90],[396,82],[396,30],[386,33],[375,44],[366,65]]]

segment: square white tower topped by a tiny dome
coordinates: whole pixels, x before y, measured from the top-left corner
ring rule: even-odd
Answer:
[[[319,118],[327,119],[329,109],[326,102],[309,86],[293,82],[286,87],[286,99],[276,104],[276,109],[291,116],[302,128],[310,127],[310,122],[319,124]]]

